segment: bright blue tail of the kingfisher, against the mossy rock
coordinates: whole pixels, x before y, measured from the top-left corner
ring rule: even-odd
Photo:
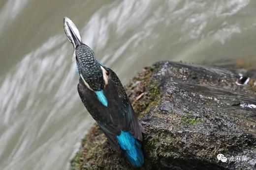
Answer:
[[[144,163],[144,156],[141,150],[141,143],[135,139],[130,132],[121,131],[117,136],[119,145],[126,152],[126,156],[134,167],[141,167]]]

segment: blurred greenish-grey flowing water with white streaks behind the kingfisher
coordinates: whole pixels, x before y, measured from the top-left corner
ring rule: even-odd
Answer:
[[[64,16],[126,84],[160,60],[254,58],[255,9],[255,0],[0,0],[0,170],[67,170],[94,123]]]

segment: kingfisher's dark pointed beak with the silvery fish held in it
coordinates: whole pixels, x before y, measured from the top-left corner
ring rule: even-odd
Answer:
[[[67,17],[64,17],[64,31],[68,41],[71,42],[74,47],[74,53],[72,57],[72,60],[74,60],[75,49],[77,46],[80,46],[82,44],[81,35],[75,24]]]

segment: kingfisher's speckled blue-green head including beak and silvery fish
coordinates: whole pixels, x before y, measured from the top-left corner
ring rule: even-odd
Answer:
[[[78,72],[85,85],[99,91],[107,84],[107,71],[98,63],[94,51],[82,43],[81,35],[75,24],[64,17],[64,31],[74,47],[73,60],[76,60]]]

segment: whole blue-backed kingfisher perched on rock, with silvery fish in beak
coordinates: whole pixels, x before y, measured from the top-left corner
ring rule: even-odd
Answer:
[[[79,83],[78,94],[88,112],[108,139],[110,146],[124,153],[130,164],[141,167],[144,163],[142,133],[125,89],[111,69],[96,60],[94,51],[83,44],[75,24],[64,17],[64,31],[74,48]]]

